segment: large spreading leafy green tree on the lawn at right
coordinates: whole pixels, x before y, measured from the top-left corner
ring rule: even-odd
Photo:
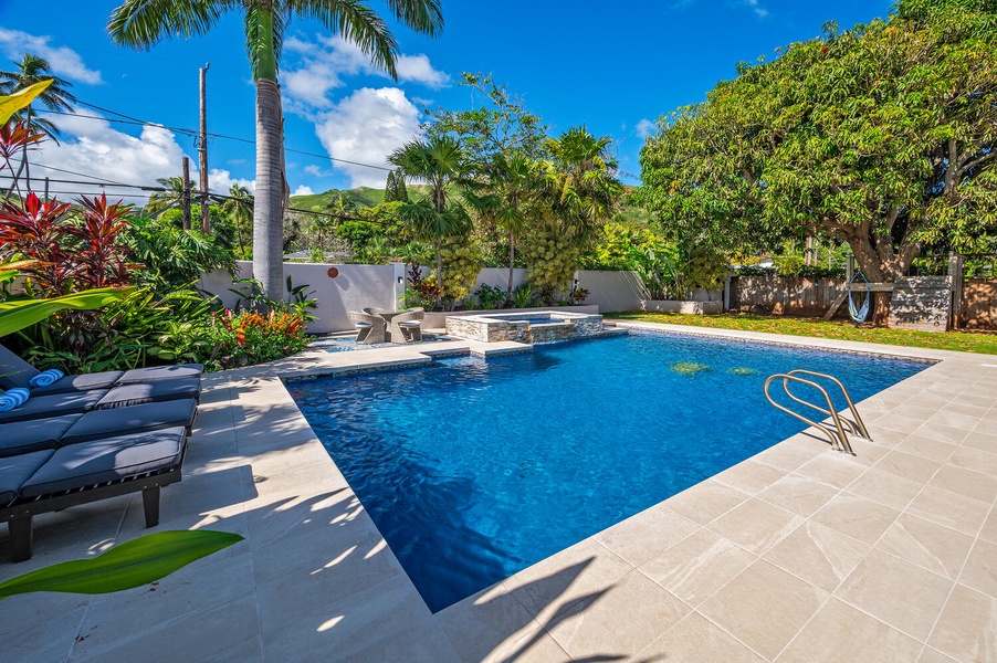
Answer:
[[[663,118],[644,202],[684,241],[848,242],[871,282],[925,242],[974,251],[997,223],[997,2],[901,0],[889,20],[739,65]],[[889,299],[877,301],[875,322]]]

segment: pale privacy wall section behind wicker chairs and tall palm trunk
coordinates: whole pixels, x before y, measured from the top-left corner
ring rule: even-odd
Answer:
[[[240,278],[252,277],[251,262],[240,261],[238,265]],[[335,278],[329,277],[329,267],[339,272]],[[287,274],[291,274],[293,285],[307,284],[309,287],[305,292],[315,291],[311,296],[318,303],[314,312],[318,317],[308,325],[308,330],[314,334],[353,329],[350,311],[366,306],[395,309],[398,297],[405,292],[405,285],[398,284],[401,265],[284,263],[285,278]],[[238,298],[229,292],[231,287],[232,280],[227,272],[212,272],[201,277],[200,288],[221,297],[225,306],[233,306]]]

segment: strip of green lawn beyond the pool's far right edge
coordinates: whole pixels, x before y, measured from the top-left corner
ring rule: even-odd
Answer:
[[[817,318],[764,316],[749,313],[682,315],[679,313],[629,312],[610,313],[606,315],[606,318],[642,323],[667,323],[669,325],[689,325],[691,327],[711,327],[713,329],[742,329],[744,332],[766,332],[768,334],[791,334],[794,336],[815,336],[817,338],[837,338],[840,340],[857,340],[860,343],[881,343],[884,345],[898,345],[911,348],[931,348],[935,350],[997,355],[997,334],[879,329],[871,327],[856,327],[850,322],[844,320],[830,320],[826,323]]]

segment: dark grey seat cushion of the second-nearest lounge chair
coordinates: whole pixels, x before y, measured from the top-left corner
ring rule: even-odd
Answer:
[[[99,440],[135,431],[156,431],[193,425],[197,402],[193,399],[146,403],[132,408],[94,410],[80,418],[60,439],[62,446]]]

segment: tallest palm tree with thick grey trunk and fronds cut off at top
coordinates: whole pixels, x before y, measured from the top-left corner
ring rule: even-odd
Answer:
[[[387,0],[391,14],[423,34],[443,28],[440,0]],[[398,43],[368,0],[126,0],[107,24],[112,41],[150,49],[168,36],[190,38],[213,28],[227,11],[243,17],[246,50],[256,83],[256,201],[253,207],[253,272],[273,297],[283,296],[282,223],[288,189],[283,169],[283,119],[277,63],[293,17],[315,19],[354,42],[397,78]]]

